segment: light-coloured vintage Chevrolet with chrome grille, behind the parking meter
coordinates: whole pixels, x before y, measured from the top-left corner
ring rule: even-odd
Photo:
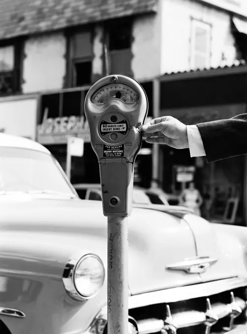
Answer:
[[[0,334],[106,334],[107,221],[50,152],[0,134]],[[247,229],[129,217],[129,334],[247,333]]]

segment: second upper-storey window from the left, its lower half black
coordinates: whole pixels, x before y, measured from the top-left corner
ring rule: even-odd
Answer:
[[[70,35],[68,40],[68,85],[78,87],[92,83],[93,36],[91,31]]]

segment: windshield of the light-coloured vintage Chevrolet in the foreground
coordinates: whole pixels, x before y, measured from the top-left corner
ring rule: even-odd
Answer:
[[[0,147],[0,194],[9,192],[74,196],[51,155],[25,148]]]

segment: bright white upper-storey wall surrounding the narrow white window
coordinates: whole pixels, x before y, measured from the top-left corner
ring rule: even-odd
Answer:
[[[211,67],[233,63],[236,50],[228,13],[193,0],[163,0],[161,74],[190,69],[191,18],[212,25]]]

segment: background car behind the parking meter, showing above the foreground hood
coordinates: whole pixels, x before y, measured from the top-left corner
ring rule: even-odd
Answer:
[[[78,183],[73,185],[81,199],[102,200],[100,184]],[[167,195],[160,189],[145,189],[134,187],[133,203],[177,205],[179,200],[175,195]]]

